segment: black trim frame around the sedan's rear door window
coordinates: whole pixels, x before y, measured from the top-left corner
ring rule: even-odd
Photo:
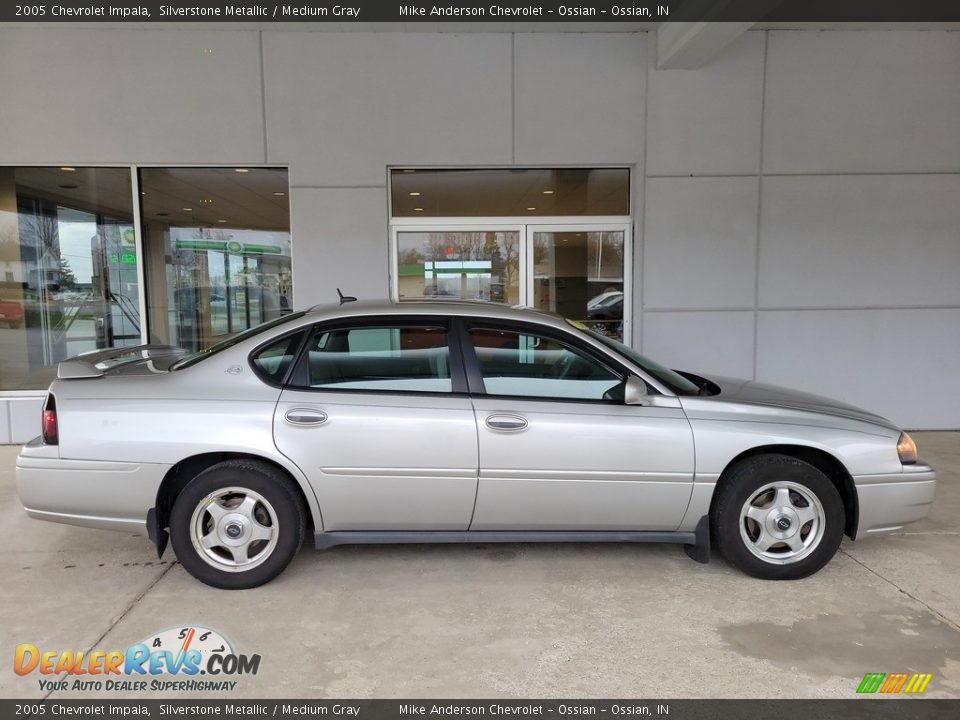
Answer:
[[[454,338],[453,318],[441,315],[371,315],[365,317],[336,318],[325,322],[314,323],[307,330],[297,351],[297,357],[284,378],[283,389],[297,392],[332,392],[339,394],[364,395],[399,395],[426,396],[426,397],[466,397],[468,396],[467,379],[464,372],[463,352],[461,344]],[[320,332],[330,332],[345,329],[364,328],[403,328],[403,327],[440,327],[446,334],[447,353],[450,365],[450,387],[447,390],[377,390],[374,388],[336,388],[311,387],[309,382],[309,366],[307,345],[310,339]]]

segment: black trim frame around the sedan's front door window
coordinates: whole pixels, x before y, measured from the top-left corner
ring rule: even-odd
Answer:
[[[488,393],[486,389],[486,383],[483,380],[483,371],[480,367],[480,359],[477,357],[476,348],[474,347],[473,340],[470,336],[470,331],[474,329],[500,330],[518,334],[525,333],[530,335],[539,335],[558,342],[561,345],[572,348],[581,355],[593,360],[606,370],[609,370],[613,375],[620,378],[621,382],[625,382],[628,377],[636,375],[636,373],[631,371],[629,368],[620,365],[619,363],[611,363],[610,358],[596,352],[596,350],[589,344],[580,342],[580,338],[576,337],[575,335],[567,334],[563,330],[555,328],[551,325],[538,325],[518,322],[516,320],[496,320],[493,318],[488,319],[475,317],[458,318],[458,320],[460,320],[458,323],[461,326],[459,330],[459,336],[460,342],[463,345],[463,357],[471,396],[509,400],[530,400],[536,402],[561,402],[578,404],[589,403],[605,406],[623,405],[622,402],[618,402],[616,400],[604,400],[602,398],[594,400],[591,398],[562,398],[541,395],[500,395],[496,393]],[[644,382],[647,382],[646,378],[642,376],[639,377]]]

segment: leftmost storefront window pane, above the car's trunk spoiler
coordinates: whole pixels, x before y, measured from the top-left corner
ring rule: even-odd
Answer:
[[[129,168],[0,167],[0,389],[140,344]]]

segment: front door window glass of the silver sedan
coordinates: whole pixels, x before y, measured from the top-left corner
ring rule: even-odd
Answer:
[[[621,379],[564,343],[535,333],[470,331],[488,395],[611,400]]]

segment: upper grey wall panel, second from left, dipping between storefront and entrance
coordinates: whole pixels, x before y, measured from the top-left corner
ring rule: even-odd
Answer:
[[[510,162],[510,35],[264,32],[271,162],[290,183]]]

